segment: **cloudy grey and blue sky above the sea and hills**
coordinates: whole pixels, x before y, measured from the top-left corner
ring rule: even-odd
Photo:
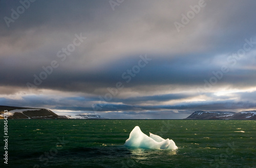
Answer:
[[[256,109],[255,1],[0,1],[0,105],[181,119]]]

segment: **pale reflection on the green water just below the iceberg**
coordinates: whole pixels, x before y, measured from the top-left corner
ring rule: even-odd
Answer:
[[[177,155],[176,150],[154,150],[154,149],[142,149],[142,148],[134,148],[130,149],[132,156],[136,160],[144,160],[148,158],[157,158],[162,156],[173,156]]]

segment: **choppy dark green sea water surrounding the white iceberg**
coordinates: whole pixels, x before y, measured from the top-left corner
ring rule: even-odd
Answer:
[[[135,126],[178,150],[124,147]],[[256,121],[9,120],[8,135],[1,167],[256,167]]]

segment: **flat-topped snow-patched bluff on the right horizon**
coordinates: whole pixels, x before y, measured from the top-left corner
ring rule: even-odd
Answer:
[[[256,119],[256,111],[195,111],[185,119]]]

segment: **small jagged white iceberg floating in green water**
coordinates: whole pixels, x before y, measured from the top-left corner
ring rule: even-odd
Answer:
[[[127,147],[138,147],[147,149],[176,150],[178,147],[172,139],[164,139],[158,135],[150,133],[144,134],[139,126],[134,127],[129,138],[124,143]]]

